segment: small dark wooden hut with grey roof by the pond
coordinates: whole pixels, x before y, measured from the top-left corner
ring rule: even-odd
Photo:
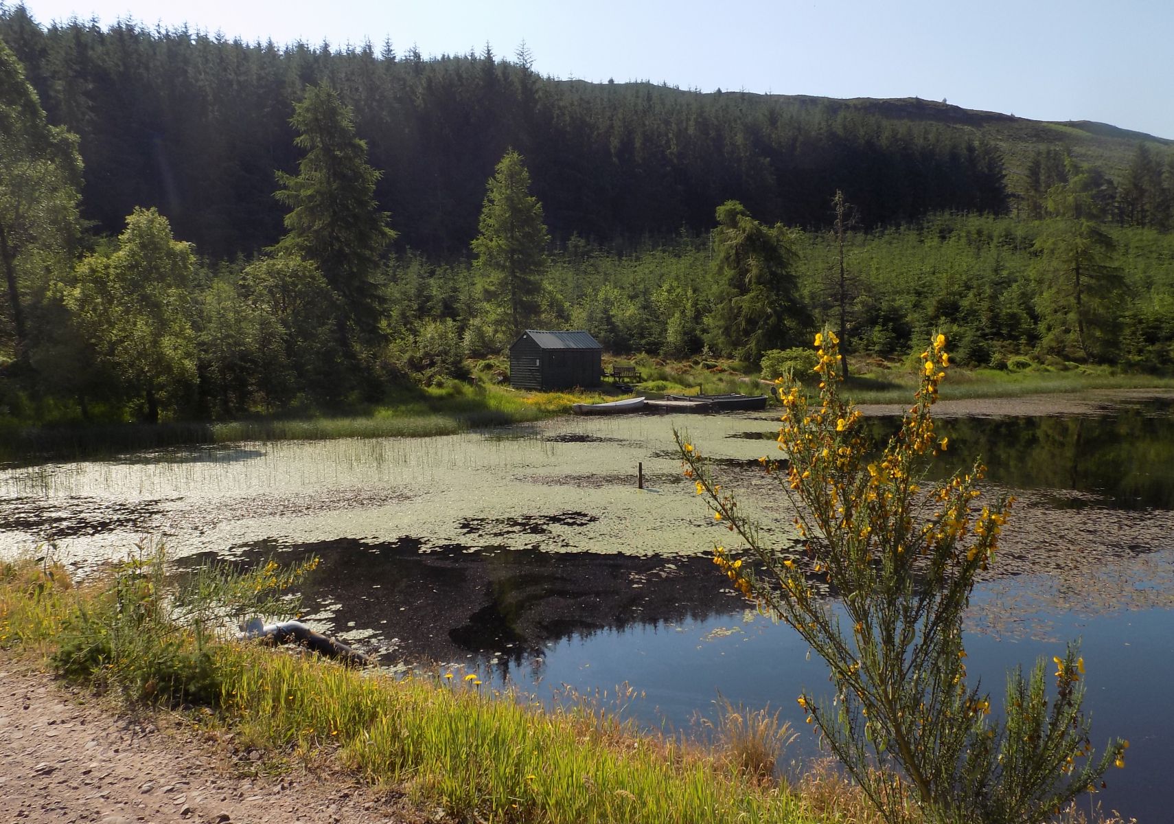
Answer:
[[[599,386],[603,347],[589,332],[527,329],[510,346],[510,385],[560,390]]]

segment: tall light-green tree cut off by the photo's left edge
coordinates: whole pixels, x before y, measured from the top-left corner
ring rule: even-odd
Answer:
[[[79,230],[77,139],[49,126],[23,67],[0,41],[0,269],[15,360],[28,357],[29,300],[69,265]]]

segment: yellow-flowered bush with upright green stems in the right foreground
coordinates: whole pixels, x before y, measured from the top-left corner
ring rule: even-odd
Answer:
[[[1128,742],[1092,757],[1075,644],[1054,658],[1054,690],[1044,662],[1027,677],[1010,674],[1001,721],[990,695],[967,683],[963,616],[1012,499],[979,504],[978,462],[923,488],[927,462],[949,446],[931,416],[950,365],[945,337],[922,352],[916,403],[879,453],[841,397],[838,340],[824,332],[815,343],[818,406],[783,381],[787,458],[761,459],[794,504],[798,553],[764,545],[677,434],[686,473],[743,542],[717,547],[714,561],[828,662],[834,698],[803,694],[799,705],[889,824],[1043,822],[1114,762],[1124,766]]]

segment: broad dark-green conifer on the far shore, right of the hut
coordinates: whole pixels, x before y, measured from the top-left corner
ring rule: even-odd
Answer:
[[[764,227],[741,203],[727,201],[717,207],[713,237],[722,281],[709,317],[717,349],[756,362],[769,349],[798,343],[811,319],[796,293],[790,230],[782,223]]]

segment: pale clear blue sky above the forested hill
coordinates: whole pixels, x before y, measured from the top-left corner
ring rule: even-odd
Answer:
[[[556,77],[832,97],[949,99],[1174,139],[1174,0],[28,0],[42,23],[97,16],[425,56],[512,58]]]

